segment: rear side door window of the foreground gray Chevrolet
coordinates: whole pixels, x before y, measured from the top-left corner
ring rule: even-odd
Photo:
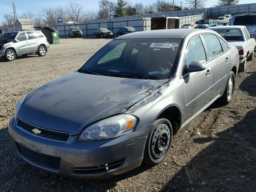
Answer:
[[[214,34],[205,34],[202,35],[204,39],[204,43],[206,46],[206,52],[209,59],[214,59],[222,54],[222,48],[220,45],[220,41],[218,40],[217,36]]]

